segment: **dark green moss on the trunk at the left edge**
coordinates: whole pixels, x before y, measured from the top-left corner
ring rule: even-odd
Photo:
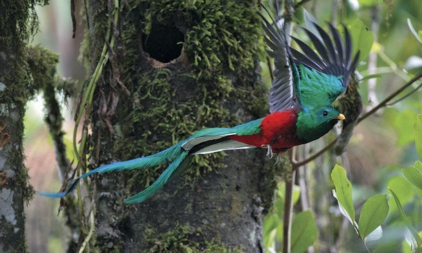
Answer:
[[[13,109],[17,115],[24,115],[24,106],[33,96],[36,88],[31,86],[30,74],[28,70],[28,57],[26,43],[31,35],[38,30],[38,17],[36,15],[36,5],[46,5],[48,1],[32,0],[17,1],[13,4],[2,1],[0,3],[0,82],[5,85],[5,90],[0,92],[0,101],[3,109],[5,106]],[[0,115],[9,116],[8,109],[0,112]],[[10,122],[9,122],[10,123]],[[23,124],[17,122],[13,133],[13,138],[17,138],[15,143],[19,143],[16,152],[8,157],[7,162],[13,167],[23,163],[22,135]],[[12,177],[11,185],[17,185],[22,190],[23,200],[28,203],[34,195],[32,186],[28,184],[27,169],[22,165],[17,170],[16,176]]]

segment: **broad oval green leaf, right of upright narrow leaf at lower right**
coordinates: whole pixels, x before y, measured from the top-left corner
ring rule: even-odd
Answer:
[[[359,236],[365,239],[385,220],[389,212],[386,194],[378,194],[368,198],[359,215]]]

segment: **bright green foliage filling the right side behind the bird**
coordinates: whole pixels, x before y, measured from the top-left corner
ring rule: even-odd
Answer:
[[[351,31],[355,52],[361,51],[356,80],[363,100],[362,114],[389,96],[392,89],[420,75],[422,64],[419,40],[422,32],[417,19],[420,16],[420,4],[417,1],[359,0],[356,1],[357,5],[349,1],[338,9],[338,6],[329,3],[312,2],[301,6],[304,8],[295,9],[294,22],[308,29],[312,29],[312,16],[320,24],[327,20],[335,24],[342,23]],[[293,26],[296,27],[296,24]],[[300,29],[294,28],[293,35],[306,40]],[[400,47],[397,47],[397,38],[402,43]],[[292,47],[296,46],[292,43]],[[265,65],[261,63],[261,66]],[[263,80],[268,80],[266,66],[264,70]],[[375,88],[368,87],[369,83],[375,83]],[[367,99],[370,92],[376,94],[378,101]],[[365,247],[377,252],[417,250],[416,233],[412,236],[406,232],[408,228],[401,221],[395,197],[387,187],[394,191],[410,224],[416,232],[419,231],[422,228],[422,190],[418,186],[422,164],[417,161],[417,156],[422,159],[422,115],[416,115],[422,111],[421,99],[418,80],[392,99],[389,106],[379,110],[378,117],[370,117],[359,124],[350,139],[347,155],[334,158],[331,149],[328,149],[326,155],[307,165],[306,186],[304,188],[301,185],[299,202],[303,204],[302,198],[308,195],[310,210],[316,218],[318,239],[313,244],[314,250],[328,251],[333,247],[338,251],[353,252],[362,252]],[[299,148],[299,153],[312,155],[331,140],[332,135],[320,142],[311,143],[311,152]],[[349,178],[346,177],[346,170],[336,165],[342,162]],[[328,180],[330,175],[334,181],[333,186]],[[335,188],[333,194],[337,202],[331,194],[328,195],[331,188]],[[284,203],[277,197],[275,206],[283,207]],[[302,208],[308,207],[296,204],[295,213],[303,211]],[[283,215],[283,211],[279,210],[277,208],[277,212],[269,214],[270,219],[264,220],[264,227],[267,222],[273,224],[270,230],[264,230],[265,245],[275,251],[280,250],[284,239],[283,231],[280,231],[283,227],[280,223],[274,223],[278,219],[276,215]],[[344,229],[342,226],[342,221],[346,219],[353,224],[356,235],[350,234],[353,233],[352,229]],[[266,237],[267,232],[271,237]],[[359,240],[363,243],[358,243]],[[414,245],[408,242],[414,242]],[[352,244],[356,245],[356,249],[349,248]]]

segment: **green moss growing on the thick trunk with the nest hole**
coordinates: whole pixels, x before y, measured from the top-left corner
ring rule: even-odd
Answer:
[[[257,41],[261,36],[257,10],[257,3],[252,1],[125,1],[116,24],[120,28],[118,46],[113,48],[119,57],[110,57],[98,82],[97,91],[101,92],[96,92],[94,99],[98,103],[98,96],[107,100],[112,93],[120,97],[113,116],[113,139],[100,147],[100,161],[107,157],[126,160],[150,155],[199,129],[234,126],[264,116],[268,112],[267,89],[256,83],[259,75],[255,71]],[[84,59],[95,66],[98,54],[92,53],[93,43],[104,41],[96,31],[105,30],[106,21],[102,17],[92,19],[97,26],[86,33],[83,47]],[[175,26],[185,34],[183,51],[188,64],[153,68],[145,60],[140,33],[148,34],[153,21]],[[101,39],[95,40],[92,35]],[[117,79],[121,83],[113,83]],[[92,122],[104,118],[100,106],[93,105]],[[245,119],[244,115],[253,117]],[[93,129],[98,129],[98,125]],[[102,134],[108,135],[107,130]],[[91,146],[97,147],[93,140],[97,140],[96,131]],[[97,160],[95,149],[91,150],[90,160]],[[221,152],[195,156],[185,173],[185,184],[192,185],[203,173],[223,168],[224,156]],[[129,178],[128,192],[122,195],[150,185],[166,166],[139,170],[130,178],[125,174]],[[198,252],[201,247],[208,248],[205,252],[232,252],[205,237],[192,240],[202,235],[187,225],[165,234],[145,231],[154,252]]]

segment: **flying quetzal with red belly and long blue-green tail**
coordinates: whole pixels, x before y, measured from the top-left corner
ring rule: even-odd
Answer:
[[[271,48],[269,55],[275,63],[269,115],[233,128],[199,130],[161,152],[114,162],[87,172],[72,180],[64,192],[40,194],[63,197],[81,178],[94,173],[142,169],[169,162],[152,185],[125,200],[127,204],[140,203],[160,190],[173,172],[186,167],[192,155],[251,148],[265,148],[268,149],[267,155],[272,155],[318,139],[330,131],[338,120],[345,119],[331,103],[345,90],[358,59],[358,56],[351,58],[349,32],[344,28],[343,43],[338,30],[329,25],[332,41],[320,26],[314,24],[319,36],[306,29],[305,32],[319,55],[304,42],[293,38],[301,47],[301,53],[289,48],[283,27],[272,26],[265,18],[263,20],[265,39]]]

